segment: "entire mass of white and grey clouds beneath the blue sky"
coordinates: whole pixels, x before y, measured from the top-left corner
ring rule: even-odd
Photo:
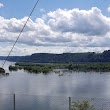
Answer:
[[[110,18],[96,7],[90,10],[57,9],[45,16],[46,19],[29,20],[14,53],[101,51],[110,47]],[[0,17],[0,42],[13,43],[26,19]]]

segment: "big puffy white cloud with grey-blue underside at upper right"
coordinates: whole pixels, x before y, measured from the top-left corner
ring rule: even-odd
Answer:
[[[49,26],[54,31],[72,32],[85,35],[105,35],[109,30],[110,19],[102,15],[101,10],[93,7],[91,10],[62,10],[48,13],[51,17]],[[103,28],[102,28],[103,27]]]

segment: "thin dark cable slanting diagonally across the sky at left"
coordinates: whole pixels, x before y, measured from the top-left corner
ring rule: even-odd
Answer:
[[[29,21],[29,19],[30,19],[31,15],[32,15],[33,11],[35,10],[35,8],[36,8],[36,6],[37,6],[37,4],[38,4],[39,1],[40,1],[40,0],[37,0],[37,2],[35,3],[35,5],[34,5],[32,11],[31,11],[31,13],[29,14],[29,16],[28,16],[26,22],[24,23],[24,26],[23,26],[23,28],[21,29],[21,31],[20,31],[20,33],[19,33],[19,35],[18,35],[16,41],[14,42],[14,44],[13,44],[11,50],[9,51],[9,53],[8,53],[8,55],[7,55],[6,59],[5,59],[5,61],[3,62],[2,68],[4,67],[4,65],[5,65],[5,63],[6,63],[6,61],[7,61],[7,59],[9,58],[9,56],[10,56],[12,50],[14,49],[14,47],[15,47],[15,45],[16,45],[18,39],[19,39],[19,37],[21,36],[21,34],[22,34],[24,28],[26,27],[27,22]]]

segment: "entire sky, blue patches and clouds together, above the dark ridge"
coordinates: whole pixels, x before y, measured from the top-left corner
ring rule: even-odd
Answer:
[[[36,0],[0,0],[0,56],[7,56]],[[110,49],[110,0],[39,0],[11,55]]]

